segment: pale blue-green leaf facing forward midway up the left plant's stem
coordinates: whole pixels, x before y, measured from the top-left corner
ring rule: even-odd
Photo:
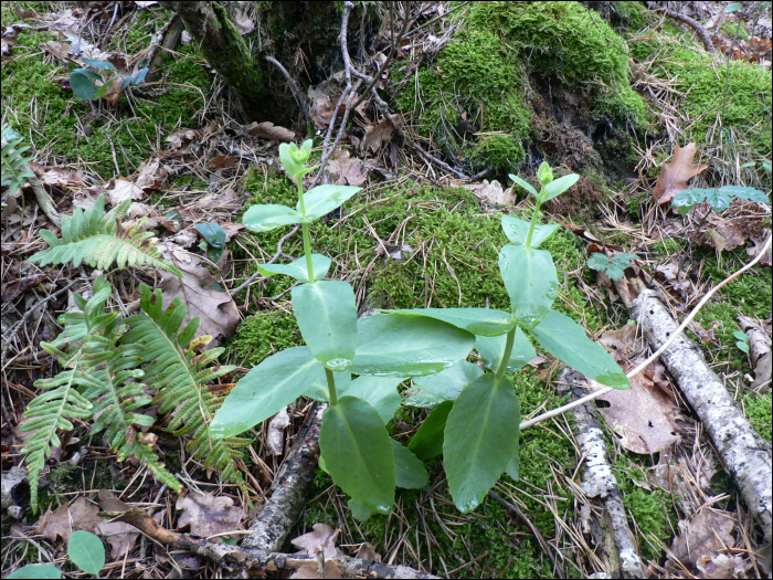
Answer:
[[[330,370],[349,368],[357,350],[357,302],[351,284],[322,280],[292,292],[293,310],[311,354]]]

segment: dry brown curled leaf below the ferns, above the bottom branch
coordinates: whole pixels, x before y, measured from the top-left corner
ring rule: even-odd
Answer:
[[[241,524],[242,508],[233,505],[230,497],[214,497],[195,491],[180,495],[174,505],[182,512],[177,523],[178,529],[190,526],[191,535],[209,538],[216,534],[244,529]]]

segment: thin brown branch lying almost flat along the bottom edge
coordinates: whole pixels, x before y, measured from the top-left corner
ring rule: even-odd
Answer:
[[[138,507],[128,512],[100,512],[99,515],[112,518],[113,521],[131,524],[146,536],[167,546],[202,556],[223,568],[232,578],[256,574],[264,577],[266,572],[292,571],[305,566],[317,568],[320,563],[325,566],[317,556],[244,548],[179,534],[159,526],[147,512]],[[336,562],[336,568],[343,578],[437,578],[406,566],[390,566],[348,556],[337,556],[327,561]]]

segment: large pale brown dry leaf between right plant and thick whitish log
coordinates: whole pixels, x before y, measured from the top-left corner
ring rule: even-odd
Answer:
[[[600,407],[599,412],[626,450],[648,455],[679,440],[676,402],[673,396],[664,392],[668,390],[664,381],[664,371],[650,365],[631,379],[631,389],[614,390],[596,399],[608,403],[608,407]],[[593,390],[601,388],[595,381],[591,384]]]

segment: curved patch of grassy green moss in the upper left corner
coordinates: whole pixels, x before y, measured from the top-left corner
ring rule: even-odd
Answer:
[[[41,55],[42,44],[56,36],[30,29],[17,34],[19,43],[2,66],[3,118],[49,160],[82,164],[102,180],[117,177],[116,171],[128,176],[172,130],[198,127],[195,112],[203,107],[211,75],[193,45],[181,48],[165,65],[160,96],[144,96],[140,86],[130,97],[134,109],[126,95],[117,107],[95,102],[103,112],[96,118],[88,104],[57,83],[67,78],[66,67]]]

